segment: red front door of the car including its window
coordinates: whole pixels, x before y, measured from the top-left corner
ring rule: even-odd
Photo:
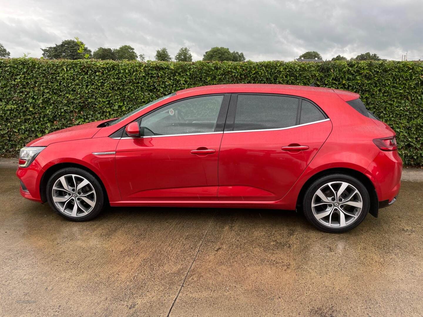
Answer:
[[[187,98],[137,120],[143,136],[124,137],[116,149],[122,200],[217,200],[228,100],[229,95]]]

